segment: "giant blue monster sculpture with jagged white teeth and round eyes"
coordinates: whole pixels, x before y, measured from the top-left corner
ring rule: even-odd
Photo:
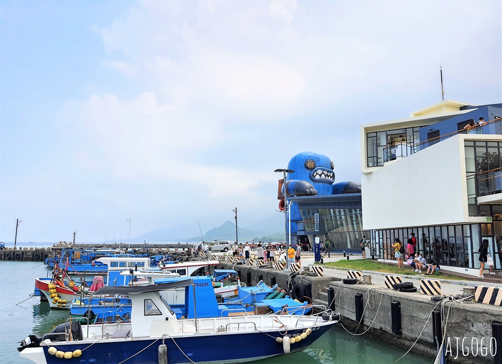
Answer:
[[[284,210],[284,192],[287,197],[360,193],[361,184],[354,181],[335,183],[334,164],[322,154],[302,152],[291,158],[288,169],[295,171],[286,175],[286,183],[279,194],[279,208]],[[281,180],[282,182],[282,180]],[[302,215],[297,203],[291,206],[291,234],[298,230]],[[292,236],[292,242],[294,237]],[[295,239],[297,240],[297,239]]]

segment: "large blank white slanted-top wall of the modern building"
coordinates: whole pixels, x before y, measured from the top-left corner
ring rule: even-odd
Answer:
[[[454,136],[363,175],[363,228],[486,221],[468,216],[464,137]]]

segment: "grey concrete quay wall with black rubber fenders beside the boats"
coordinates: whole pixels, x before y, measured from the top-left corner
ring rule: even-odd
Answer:
[[[240,271],[245,283],[256,284],[261,277],[269,285],[276,282],[280,287],[287,287],[289,274],[284,271],[229,263],[222,266]],[[334,270],[326,269],[325,273],[331,274],[330,271]],[[346,275],[344,271],[337,273]],[[432,362],[438,341],[440,344],[445,332],[448,362],[502,363],[500,306],[471,300],[433,302],[431,296],[419,292],[400,292],[380,283],[349,285],[344,284],[342,278],[332,276],[298,275],[293,279],[293,284],[300,282],[310,285],[314,305],[329,307],[331,304],[335,312],[340,312],[341,325],[347,331],[400,347],[403,354],[413,346],[412,351],[430,357]],[[462,291],[459,285],[458,294]],[[451,293],[451,289],[445,293]]]

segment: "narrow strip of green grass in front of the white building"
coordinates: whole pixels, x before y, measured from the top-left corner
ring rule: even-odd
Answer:
[[[373,272],[384,272],[384,273],[391,273],[391,274],[406,274],[410,276],[420,276],[422,278],[434,278],[434,279],[451,279],[451,280],[456,280],[456,281],[464,281],[465,279],[462,277],[458,276],[453,276],[451,274],[443,274],[440,273],[439,275],[432,275],[432,276],[425,276],[424,273],[427,271],[422,271],[423,273],[417,273],[411,270],[411,267],[405,266],[405,269],[398,268],[395,265],[389,264],[389,263],[379,263],[379,262],[372,262],[368,259],[356,259],[353,261],[346,261],[346,260],[340,260],[338,262],[329,262],[329,263],[324,263],[323,265],[329,266],[329,267],[337,267],[337,268],[346,268],[354,271],[373,271]]]

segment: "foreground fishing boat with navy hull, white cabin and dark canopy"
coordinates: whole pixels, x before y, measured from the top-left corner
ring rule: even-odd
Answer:
[[[68,323],[63,333],[29,335],[18,347],[20,356],[37,364],[60,363],[63,357],[96,364],[248,362],[301,351],[339,319],[331,312],[178,319],[161,292],[180,287],[195,289],[192,279],[101,288],[96,295],[131,298],[131,322]],[[235,344],[223,349],[224,343]]]

